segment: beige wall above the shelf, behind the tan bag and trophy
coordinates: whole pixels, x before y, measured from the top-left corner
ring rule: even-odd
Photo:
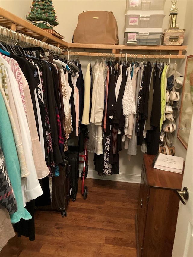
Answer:
[[[25,19],[30,11],[31,2],[31,0],[1,0],[0,6]],[[52,2],[59,22],[55,30],[61,33],[67,42],[72,41],[72,35],[77,25],[79,13],[84,10],[103,10],[112,11],[115,15],[119,29],[119,44],[124,43],[126,0],[53,0]],[[177,21],[179,22],[180,28],[184,28],[184,14],[187,2],[191,2],[191,0],[179,0],[177,2],[179,9]],[[171,1],[166,0],[164,7],[166,16],[163,20],[163,30],[169,26],[170,8]]]

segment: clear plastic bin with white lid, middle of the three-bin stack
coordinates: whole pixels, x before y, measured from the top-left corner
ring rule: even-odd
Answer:
[[[126,28],[162,28],[164,11],[127,11]]]

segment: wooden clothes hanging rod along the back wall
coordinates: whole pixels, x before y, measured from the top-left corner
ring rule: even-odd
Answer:
[[[112,54],[112,53],[89,53],[89,52],[71,52],[71,51],[65,51],[62,52],[61,55],[74,55],[74,57],[78,56],[95,56],[95,57],[103,57],[103,58],[113,58],[113,57],[119,57],[119,58],[126,58],[126,54],[120,53],[120,54]],[[165,59],[185,59],[186,55],[142,55],[142,54],[127,54],[127,58],[144,58],[144,59],[159,59],[159,58],[165,58]]]

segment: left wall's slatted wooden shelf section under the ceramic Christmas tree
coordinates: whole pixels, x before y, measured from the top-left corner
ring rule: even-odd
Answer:
[[[29,21],[0,8],[0,25],[55,46],[68,47],[68,43],[31,24]]]

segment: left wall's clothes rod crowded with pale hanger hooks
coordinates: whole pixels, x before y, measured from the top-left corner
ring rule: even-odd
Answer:
[[[50,45],[46,42],[42,42],[38,39],[34,39],[30,36],[26,36],[3,26],[0,26],[0,40],[8,44],[12,43],[15,45],[21,45],[23,47],[41,47],[46,52],[50,52],[51,54],[59,55],[62,53],[62,49],[55,45]]]

